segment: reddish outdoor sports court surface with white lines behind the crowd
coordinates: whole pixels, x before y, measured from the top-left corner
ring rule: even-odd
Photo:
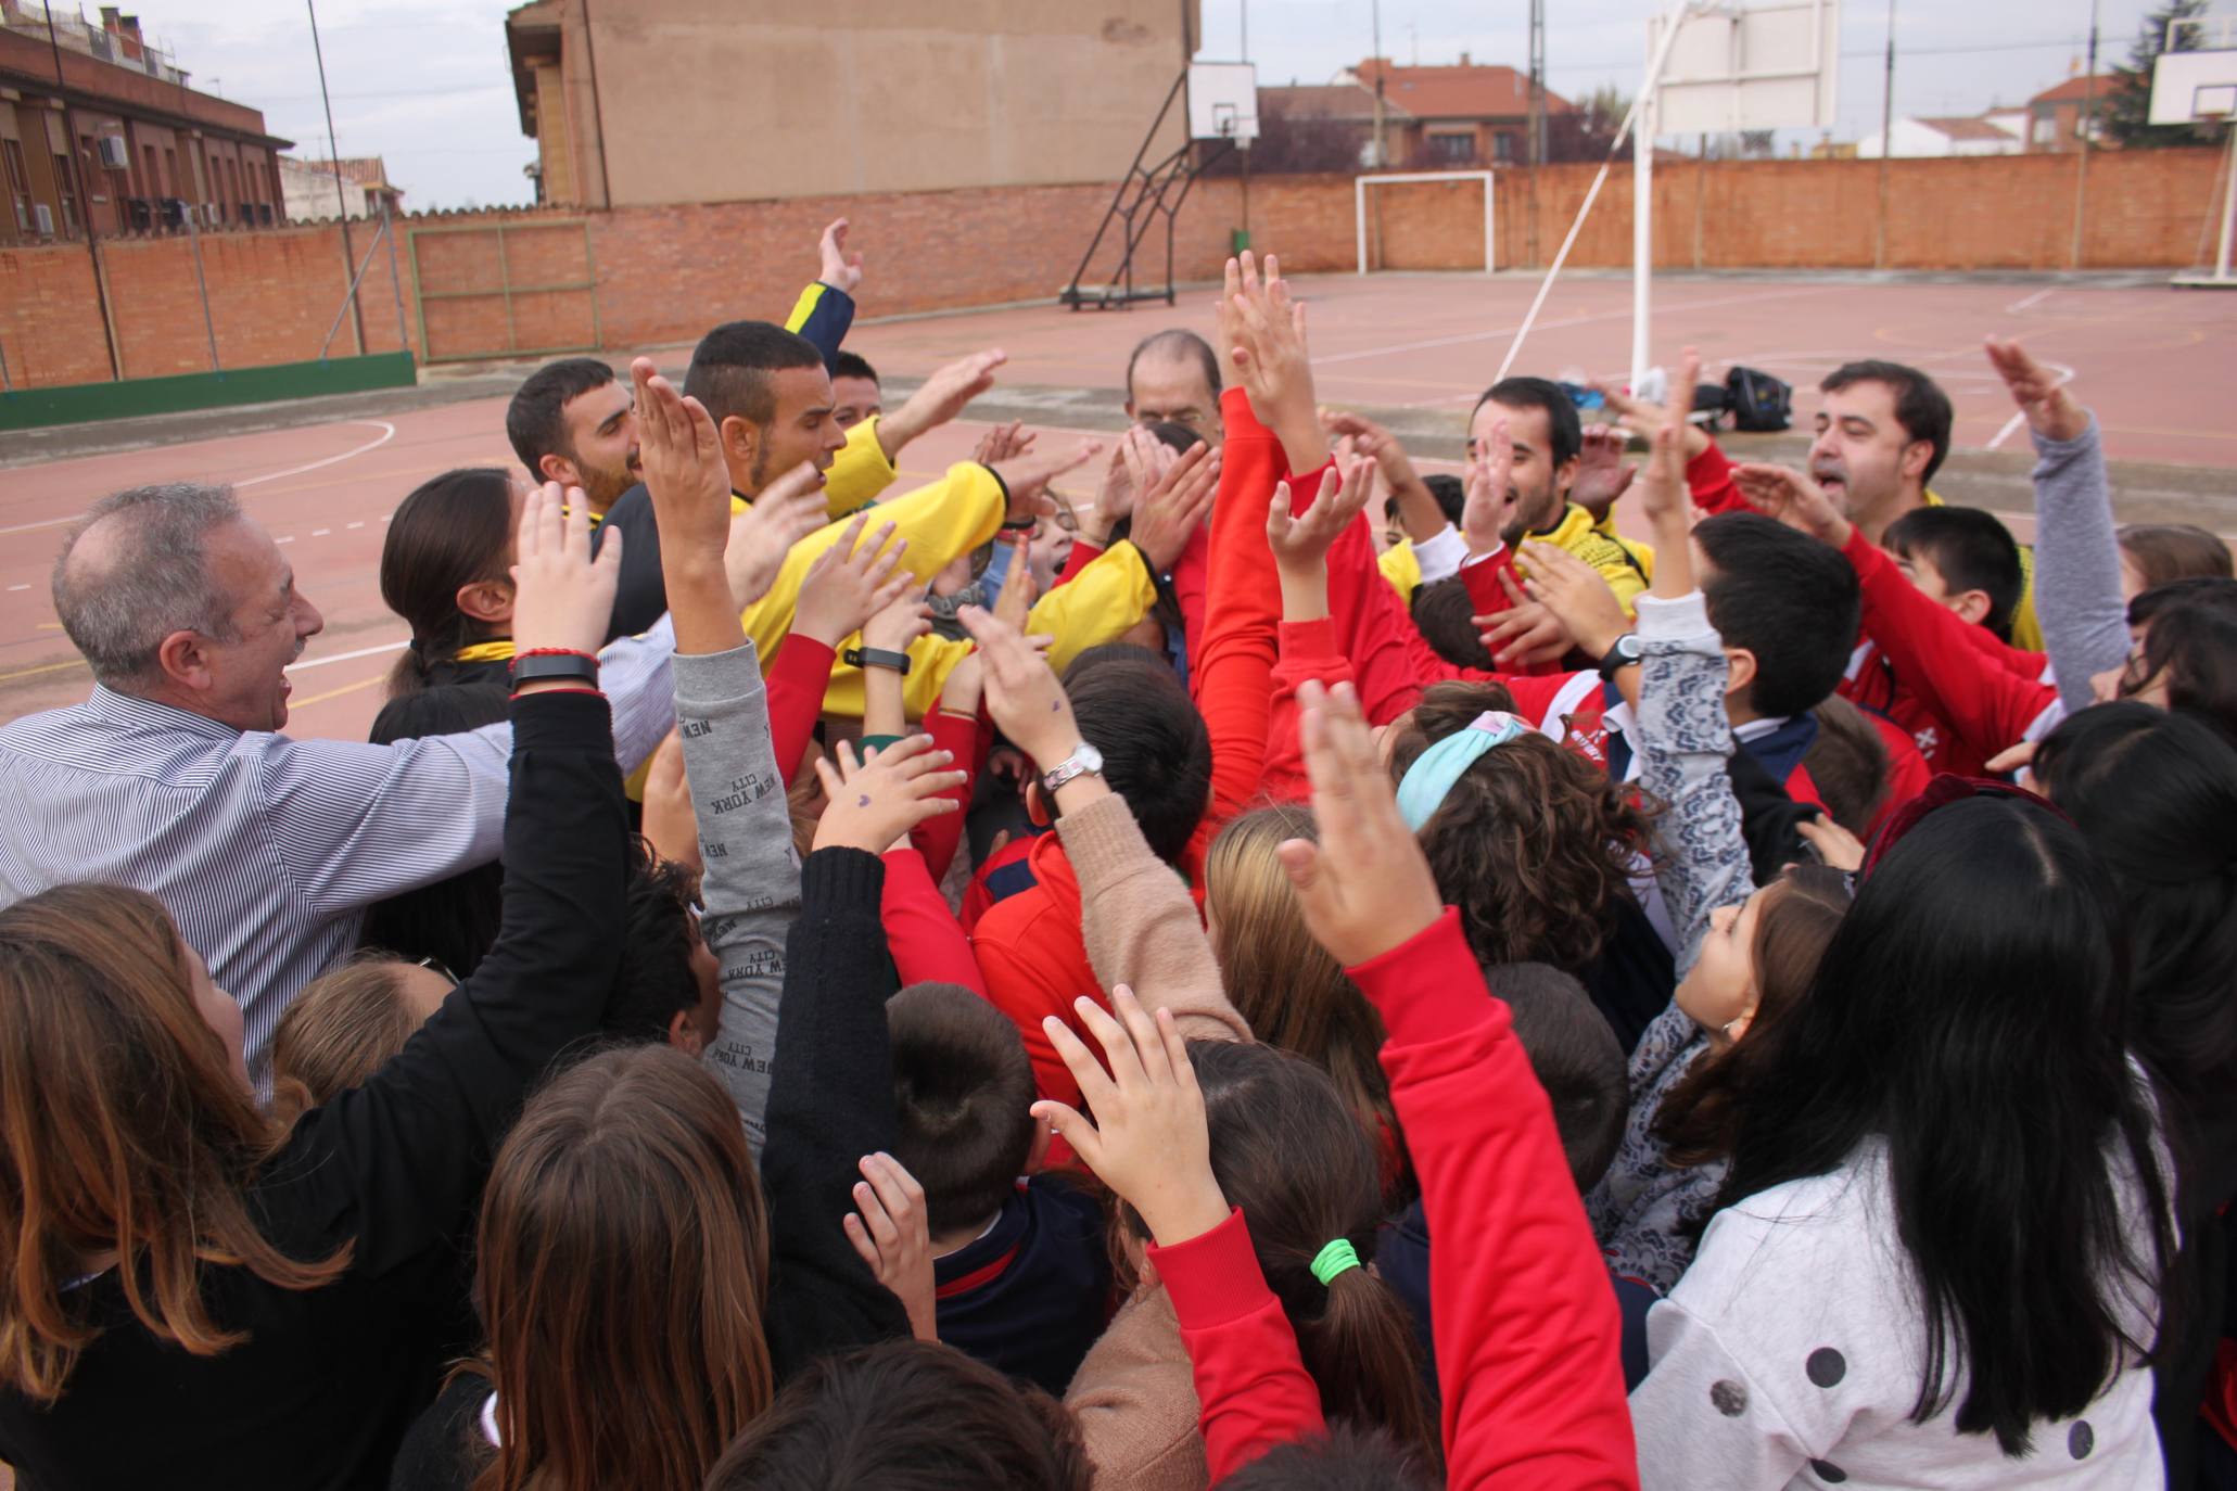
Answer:
[[[875,273],[875,270],[872,270]],[[2141,277],[2139,277],[2141,279]],[[1537,291],[1535,275],[1311,275],[1297,279],[1324,402],[1416,418],[1447,414],[1452,429],[1492,380]],[[770,306],[781,313],[783,306]],[[982,346],[1009,351],[995,398],[1045,440],[1107,431],[1121,418],[1127,349],[1163,326],[1212,329],[1212,291],[1134,311],[1029,306],[861,324],[848,346],[890,380],[915,380]],[[2074,371],[2116,460],[2237,469],[2237,425],[2224,391],[2237,373],[2237,295],[2172,291],[2156,282],[1875,284],[1834,277],[1664,277],[1655,284],[1658,358],[1700,349],[1720,376],[1747,362],[1796,384],[1796,425],[1816,378],[1848,358],[1890,358],[1931,371],[1957,405],[1962,449],[2027,449],[2002,384],[1980,353],[1989,333],[2027,344]],[[1552,293],[1517,371],[1617,378],[1629,362],[1629,277],[1575,275]],[[689,349],[658,353],[680,371]],[[620,360],[617,360],[620,362]],[[989,400],[993,405],[993,400]],[[1031,420],[1031,411],[1049,411]],[[969,456],[987,420],[913,445],[904,481]],[[224,427],[224,416],[213,416]],[[0,445],[4,454],[4,445]],[[1456,438],[1425,454],[1456,454]],[[295,664],[291,731],[362,740],[380,680],[405,639],[380,604],[387,514],[436,472],[512,465],[503,398],[394,416],[306,422],[230,438],[107,456],[49,460],[0,474],[0,718],[74,702],[89,680],[54,619],[47,570],[60,530],[105,492],[152,481],[230,481],[295,563],[298,583],[327,617]],[[1087,483],[1074,478],[1069,487]],[[1964,492],[1937,483],[1953,498]],[[2230,478],[2237,494],[2237,476]],[[2237,519],[2228,528],[2237,528]]]

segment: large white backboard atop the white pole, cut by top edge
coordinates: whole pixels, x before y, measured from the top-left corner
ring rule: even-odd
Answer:
[[[1664,18],[1649,22],[1646,54]],[[1841,0],[1702,4],[1678,20],[1655,134],[1830,130],[1841,76]]]

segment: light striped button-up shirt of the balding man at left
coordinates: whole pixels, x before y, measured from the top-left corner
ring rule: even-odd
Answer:
[[[667,619],[604,650],[624,767],[676,724]],[[365,908],[497,858],[512,726],[356,744],[237,731],[94,686],[0,726],[0,901],[132,885],[161,901],[242,1004],[248,1071],[304,984],[358,943]]]

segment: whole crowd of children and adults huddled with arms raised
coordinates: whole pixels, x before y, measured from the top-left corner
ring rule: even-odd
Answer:
[[[821,255],[403,498],[367,744],[226,487],[69,532],[18,1487],[2237,1484],[2237,579],[2067,382],[2029,548],[1881,360],[1423,474],[1242,255],[895,496],[1002,355],[888,409]]]

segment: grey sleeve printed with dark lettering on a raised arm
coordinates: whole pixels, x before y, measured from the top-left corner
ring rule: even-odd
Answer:
[[[707,867],[700,925],[723,963],[723,1028],[705,1060],[738,1104],[758,1160],[776,1055],[776,997],[785,986],[785,932],[801,910],[801,858],[792,847],[792,809],[770,744],[770,706],[752,642],[729,653],[676,657],[676,729]]]

